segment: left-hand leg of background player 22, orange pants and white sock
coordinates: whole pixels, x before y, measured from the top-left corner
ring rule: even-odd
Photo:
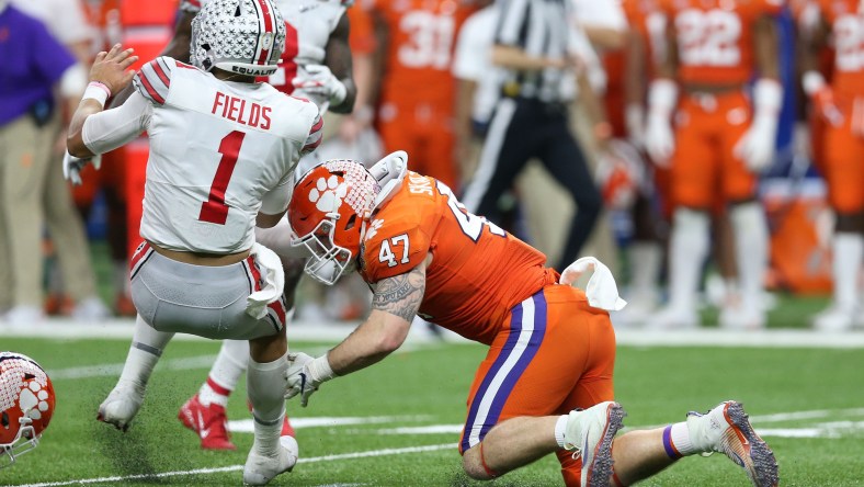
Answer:
[[[671,167],[675,209],[669,241],[669,301],[647,321],[658,329],[698,325],[696,292],[709,247],[708,208],[719,166],[716,148],[705,143],[713,118],[693,99],[682,101],[679,118]]]

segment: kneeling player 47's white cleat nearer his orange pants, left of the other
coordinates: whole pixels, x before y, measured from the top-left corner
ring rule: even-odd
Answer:
[[[619,404],[605,401],[573,410],[564,430],[565,449],[582,456],[582,487],[605,487],[612,477],[612,441],[627,416]]]

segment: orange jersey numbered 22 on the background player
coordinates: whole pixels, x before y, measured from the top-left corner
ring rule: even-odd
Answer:
[[[684,83],[746,83],[753,76],[753,27],[776,15],[783,0],[662,0],[675,32],[678,79]]]

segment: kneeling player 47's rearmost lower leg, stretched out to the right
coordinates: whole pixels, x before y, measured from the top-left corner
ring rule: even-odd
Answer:
[[[778,483],[774,453],[753,430],[740,403],[724,401],[705,415],[689,412],[686,421],[666,428],[628,431],[616,438],[611,485],[632,485],[683,456],[719,452],[742,467],[754,486]]]

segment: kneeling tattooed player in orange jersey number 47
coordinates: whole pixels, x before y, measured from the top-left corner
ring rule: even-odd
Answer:
[[[559,276],[542,252],[468,213],[446,184],[407,172],[407,163],[401,151],[368,170],[331,160],[295,185],[292,245],[312,254],[306,272],[332,284],[356,265],[374,297],[368,318],[328,353],[289,355],[286,397],[306,406],[323,382],[383,360],[420,315],[489,346],[459,442],[471,478],[556,453],[569,486],[629,485],[682,455],[724,451],[754,485],[777,484],[771,449],[735,401],[616,439],[625,412],[614,401],[606,309],[625,303],[609,269],[586,258]],[[587,295],[570,283],[589,267]]]

